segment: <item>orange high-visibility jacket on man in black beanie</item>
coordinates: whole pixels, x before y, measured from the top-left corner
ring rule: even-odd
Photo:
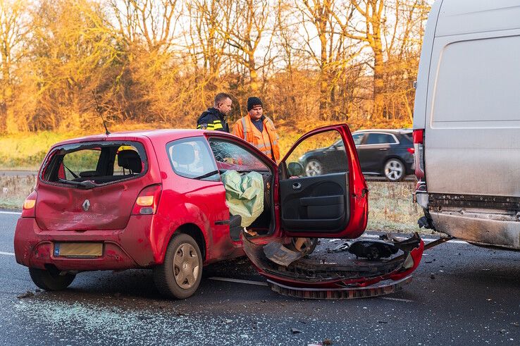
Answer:
[[[260,132],[253,125],[249,114],[242,117],[233,126],[233,135],[253,144],[257,149],[278,162],[280,148],[278,147],[278,135],[271,119],[264,116],[264,131]]]

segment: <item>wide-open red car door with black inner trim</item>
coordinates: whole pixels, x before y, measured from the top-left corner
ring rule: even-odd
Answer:
[[[368,190],[347,125],[301,137],[280,162],[280,223],[288,237],[361,235]]]

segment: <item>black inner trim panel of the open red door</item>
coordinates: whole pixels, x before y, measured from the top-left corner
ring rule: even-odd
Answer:
[[[285,230],[339,232],[349,221],[347,173],[280,181]]]

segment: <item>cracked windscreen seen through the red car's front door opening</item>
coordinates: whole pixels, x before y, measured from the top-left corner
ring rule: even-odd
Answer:
[[[219,138],[210,138],[209,146],[213,156],[215,156],[218,168],[221,170],[231,169],[240,172],[271,171],[266,163],[262,162],[256,154],[249,152],[240,144]]]

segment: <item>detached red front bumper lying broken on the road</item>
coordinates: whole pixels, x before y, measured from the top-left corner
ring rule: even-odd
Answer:
[[[401,254],[388,260],[328,263],[324,259],[301,258],[284,266],[268,259],[263,245],[242,237],[244,252],[273,290],[317,299],[373,297],[399,290],[410,282],[410,274],[419,266],[424,250],[417,233],[405,242],[408,246],[400,249]],[[390,282],[382,284],[385,280]]]

